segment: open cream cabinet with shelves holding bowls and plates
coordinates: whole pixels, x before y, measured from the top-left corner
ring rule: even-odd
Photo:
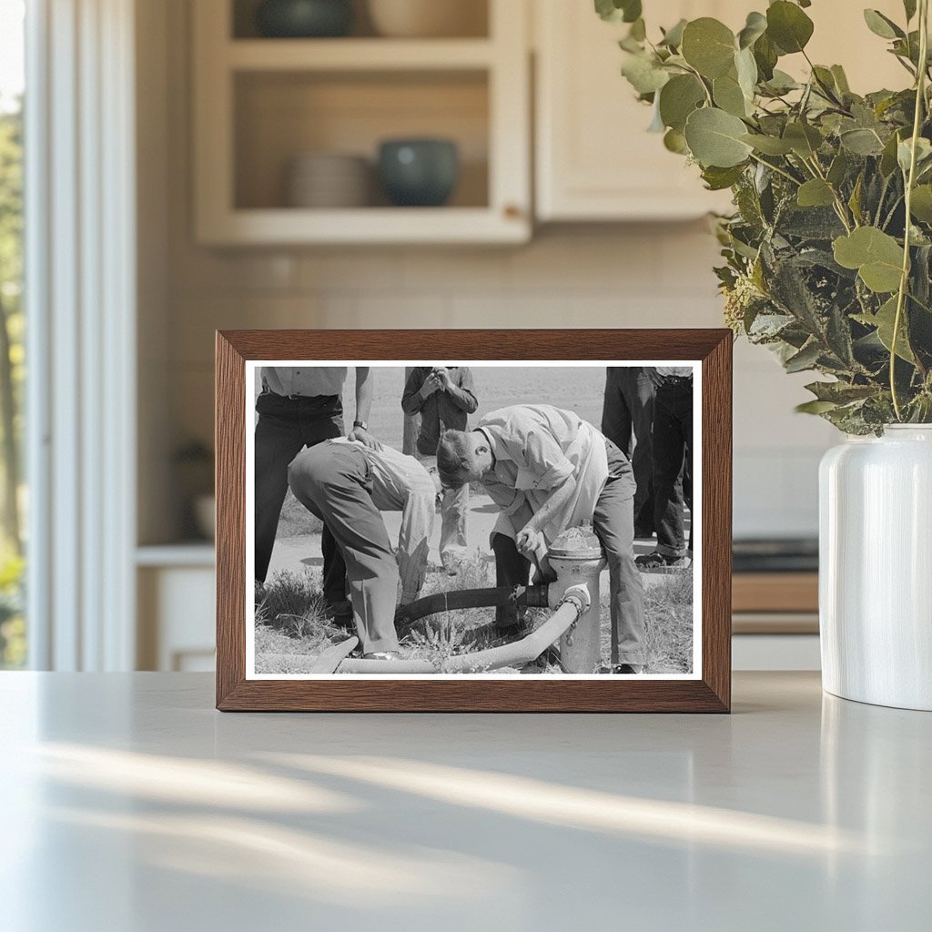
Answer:
[[[529,239],[524,4],[488,0],[488,35],[450,39],[239,37],[238,16],[231,0],[193,9],[199,242]],[[392,206],[379,184],[379,145],[410,138],[456,144],[459,177],[444,206]],[[308,154],[362,158],[362,206],[295,206],[287,179]]]

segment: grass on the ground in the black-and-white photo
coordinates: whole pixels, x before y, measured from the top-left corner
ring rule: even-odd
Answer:
[[[603,577],[604,578],[604,577]],[[332,624],[325,613],[317,569],[278,573],[256,595],[255,671],[292,673],[288,656],[316,656],[347,637],[348,632]],[[495,584],[493,564],[476,556],[465,563],[457,576],[432,572],[421,593],[455,589],[485,588]],[[606,589],[608,587],[606,586]],[[602,608],[602,662],[610,665],[609,593],[600,596]],[[645,577],[647,656],[649,673],[692,672],[692,571]],[[532,610],[532,626],[549,616]],[[445,658],[464,652],[484,651],[504,643],[495,631],[494,609],[466,609],[432,615],[398,625],[404,657],[442,664]],[[553,674],[561,668],[555,652],[548,651],[524,670],[505,668],[498,674]]]

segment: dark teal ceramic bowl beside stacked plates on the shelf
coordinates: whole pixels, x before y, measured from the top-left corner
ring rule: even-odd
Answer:
[[[459,150],[448,139],[391,139],[378,150],[378,174],[396,207],[440,207],[459,181]]]

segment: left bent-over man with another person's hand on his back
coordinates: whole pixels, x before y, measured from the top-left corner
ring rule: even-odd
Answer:
[[[390,446],[328,440],[295,457],[288,485],[336,539],[363,656],[396,660],[399,578],[406,604],[418,597],[427,570],[437,496],[431,476]],[[381,512],[402,513],[397,558]]]

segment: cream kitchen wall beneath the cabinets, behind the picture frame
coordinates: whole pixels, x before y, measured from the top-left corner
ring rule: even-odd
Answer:
[[[165,380],[173,442],[212,435],[215,328],[721,325],[717,244],[700,223],[551,228],[516,249],[200,249],[190,232],[185,6],[166,5],[171,337],[164,358],[160,348],[144,354]],[[806,381],[763,349],[735,346],[738,536],[816,533],[816,466],[835,434],[793,414]],[[153,418],[158,404],[148,405]],[[150,462],[144,473],[168,468]]]

